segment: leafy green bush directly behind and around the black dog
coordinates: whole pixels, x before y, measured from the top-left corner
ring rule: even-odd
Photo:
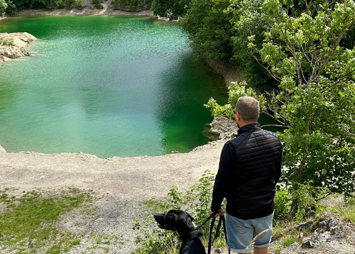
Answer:
[[[210,204],[212,199],[213,183],[215,181],[214,174],[206,170],[199,181],[191,186],[186,193],[180,192],[177,187],[171,187],[168,197],[162,202],[155,202],[152,214],[147,216],[144,221],[137,220],[134,230],[139,231],[139,236],[135,242],[141,243],[141,246],[133,251],[134,254],[163,254],[173,253],[177,249],[177,245],[181,243],[176,240],[172,231],[161,230],[156,227],[153,214],[157,212],[166,212],[171,209],[184,209],[194,217],[194,225],[200,225],[203,220],[209,216]],[[153,226],[154,225],[154,226]],[[206,223],[200,230],[203,233],[202,242],[207,242],[209,233],[209,223]],[[224,236],[221,232],[219,242],[223,242]]]

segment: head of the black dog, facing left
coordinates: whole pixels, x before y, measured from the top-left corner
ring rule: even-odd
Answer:
[[[178,230],[193,226],[194,218],[182,210],[170,210],[165,213],[154,214],[158,227],[165,230]]]

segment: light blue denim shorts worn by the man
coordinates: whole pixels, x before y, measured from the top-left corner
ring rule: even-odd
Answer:
[[[238,253],[246,253],[251,252],[253,246],[258,248],[269,246],[273,216],[274,213],[261,218],[238,219],[226,214],[226,230],[230,250]],[[258,237],[256,237],[257,235]],[[254,239],[255,237],[256,239]],[[254,243],[252,243],[253,239]]]

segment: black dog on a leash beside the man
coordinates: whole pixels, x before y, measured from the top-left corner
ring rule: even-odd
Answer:
[[[173,230],[179,234],[183,245],[179,254],[206,254],[203,244],[199,238],[192,221],[194,218],[185,211],[170,210],[166,213],[154,214],[158,227],[165,230]]]

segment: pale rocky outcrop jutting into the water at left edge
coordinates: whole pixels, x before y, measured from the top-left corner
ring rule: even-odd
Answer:
[[[0,63],[12,58],[31,55],[24,47],[37,40],[28,33],[0,34]]]

